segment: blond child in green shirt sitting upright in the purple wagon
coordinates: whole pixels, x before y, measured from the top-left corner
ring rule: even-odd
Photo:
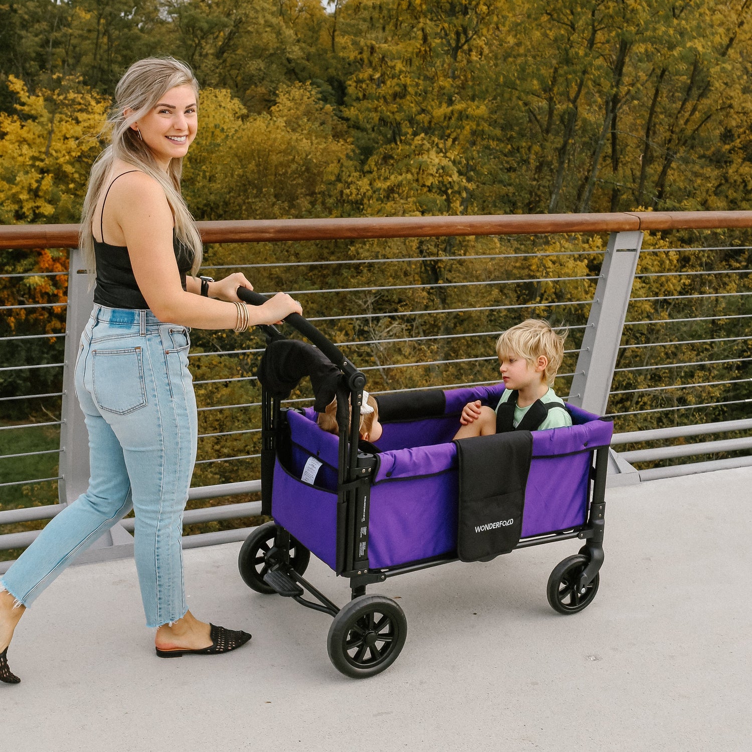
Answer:
[[[572,418],[564,402],[551,388],[564,357],[566,335],[566,329],[557,332],[547,321],[538,319],[528,319],[502,332],[496,341],[499,371],[505,386],[502,398],[496,410],[481,406],[480,400],[468,402],[459,418],[462,428],[454,438],[496,433],[497,420],[500,430],[517,429],[536,403],[539,404],[534,408],[535,413],[525,421],[523,429],[538,431],[571,426]],[[516,400],[514,413],[510,399]],[[538,421],[534,416],[542,420]]]

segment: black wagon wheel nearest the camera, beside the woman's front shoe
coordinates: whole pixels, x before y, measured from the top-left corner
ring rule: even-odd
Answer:
[[[334,617],[326,650],[335,669],[365,679],[397,660],[407,636],[408,620],[399,603],[385,596],[359,596]]]

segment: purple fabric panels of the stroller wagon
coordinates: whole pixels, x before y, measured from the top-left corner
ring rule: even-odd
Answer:
[[[456,550],[457,459],[451,443],[466,402],[496,407],[503,384],[447,390],[443,417],[387,423],[377,442],[380,465],[371,487],[368,559],[371,568],[398,566]],[[608,446],[613,426],[570,407],[573,425],[535,431],[523,538],[581,525],[587,517],[590,453]],[[323,432],[310,408],[288,413],[294,475],[309,456],[323,462],[312,487],[284,468],[274,472],[272,514],[332,569],[336,551],[338,439]],[[277,478],[280,484],[277,485]],[[328,490],[325,490],[328,489]],[[280,499],[280,496],[287,496]],[[311,502],[309,503],[309,499]],[[321,514],[322,519],[314,517]]]

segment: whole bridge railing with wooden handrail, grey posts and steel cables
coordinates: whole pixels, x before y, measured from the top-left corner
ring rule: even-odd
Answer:
[[[256,290],[293,293],[375,393],[494,383],[499,332],[529,316],[568,325],[556,392],[614,417],[614,484],[752,463],[750,226],[752,212],[199,223],[216,244],[207,273],[243,271]],[[655,247],[641,248],[646,229],[729,228],[741,229],[734,244],[651,238]],[[0,227],[0,247],[71,249],[67,262],[47,253],[28,271],[0,274],[0,551],[28,545],[37,531],[19,528],[53,517],[88,481],[71,379],[92,293],[76,243],[76,226]],[[260,511],[263,343],[192,337],[199,456],[184,522],[189,532],[231,529],[186,535],[186,547],[241,540],[247,527],[232,526]],[[290,399],[310,403],[305,387]],[[132,532],[123,520],[86,558],[127,555]]]

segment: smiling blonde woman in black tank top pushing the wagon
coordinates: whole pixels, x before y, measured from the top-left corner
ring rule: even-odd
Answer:
[[[136,62],[115,91],[111,145],[92,168],[80,234],[96,270],[75,369],[91,478],[0,581],[0,681],[9,684],[20,681],[7,656],[23,611],[131,508],[157,655],[222,653],[250,639],[186,608],[180,537],[197,436],[187,328],[240,332],[302,309],[284,293],[258,308],[245,305],[235,294],[253,289],[243,274],[217,282],[193,276],[202,246],[180,195],[180,171],[196,138],[198,94],[190,68],[172,58]]]

